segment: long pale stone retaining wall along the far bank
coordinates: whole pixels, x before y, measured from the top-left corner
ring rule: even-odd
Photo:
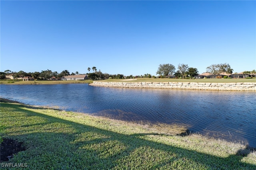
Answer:
[[[119,88],[167,88],[188,90],[256,91],[256,82],[199,83],[199,82],[96,82],[92,86]]]

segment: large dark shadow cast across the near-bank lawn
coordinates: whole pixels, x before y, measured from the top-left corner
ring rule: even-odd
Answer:
[[[28,111],[24,107],[31,107],[26,105],[1,107],[14,109],[25,119],[38,119],[37,123],[17,125],[19,134],[6,133],[27,147],[9,162],[27,163],[27,169],[256,169],[254,164],[241,162],[250,153],[248,148],[220,157],[152,141],[150,136],[156,133],[124,135]],[[1,119],[8,116],[1,113]]]

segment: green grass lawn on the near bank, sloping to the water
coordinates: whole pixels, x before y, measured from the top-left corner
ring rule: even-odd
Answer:
[[[24,169],[256,169],[255,151],[196,134],[182,137],[177,134],[185,129],[177,125],[13,103],[1,103],[0,109],[1,137],[22,141],[27,148],[4,163],[26,163]]]

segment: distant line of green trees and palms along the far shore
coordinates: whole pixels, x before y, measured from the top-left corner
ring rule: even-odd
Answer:
[[[96,79],[122,79],[122,78],[157,78],[156,76],[152,76],[151,74],[144,74],[140,76],[124,76],[124,74],[108,74],[108,73],[102,73],[100,70],[97,71],[97,68],[93,66],[92,68],[87,68],[89,73],[86,73],[88,78],[96,80]],[[91,73],[90,71],[93,70]],[[222,72],[226,72],[227,74],[232,74],[233,69],[230,67],[229,64],[212,64],[206,68],[206,72],[210,72],[212,74],[216,74],[220,76]],[[69,75],[78,75],[80,74],[78,71],[70,72],[68,70],[63,70],[62,72],[58,73],[56,71],[52,70],[42,70],[41,72],[12,72],[11,70],[5,70],[4,72],[0,72],[0,79],[5,79],[6,76],[12,74],[14,78],[19,77],[33,77],[37,80],[60,80],[63,76],[69,76]],[[158,67],[158,70],[156,72],[158,74],[158,78],[166,78],[166,77],[172,77],[172,78],[194,78],[198,75],[197,68],[189,67],[188,64],[178,64],[178,68],[176,70],[175,66],[173,64],[160,64]],[[254,74],[254,77],[256,77],[256,71],[244,71],[243,74],[245,77],[249,77],[249,74]]]

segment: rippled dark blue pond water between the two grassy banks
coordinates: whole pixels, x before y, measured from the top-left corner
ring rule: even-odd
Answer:
[[[256,92],[1,84],[0,95],[127,121],[186,124],[194,133],[256,147]]]

